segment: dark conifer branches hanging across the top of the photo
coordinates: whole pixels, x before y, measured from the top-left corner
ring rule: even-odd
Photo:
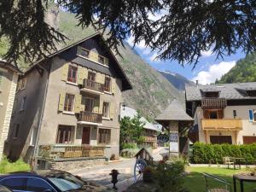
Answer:
[[[65,36],[44,21],[52,0],[0,0],[0,38],[9,38],[6,59],[32,61],[47,55]],[[130,36],[158,51],[161,60],[194,63],[201,51],[217,56],[256,48],[254,0],[57,0],[74,13],[80,26],[107,33],[108,45],[118,46]],[[44,4],[44,5],[43,5]],[[152,15],[160,15],[152,19]]]

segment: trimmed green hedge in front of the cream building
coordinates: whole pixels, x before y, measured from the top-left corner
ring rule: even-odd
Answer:
[[[241,157],[241,164],[256,162],[256,143],[244,145],[195,143],[192,163],[222,164],[223,157]]]

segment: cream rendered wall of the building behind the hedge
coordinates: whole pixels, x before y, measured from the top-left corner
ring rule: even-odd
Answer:
[[[198,123],[199,127],[199,141],[202,143],[210,143],[210,136],[231,136],[233,144],[242,144],[243,136],[256,136],[256,122],[249,122],[249,109],[255,109],[256,105],[252,106],[227,106],[224,108],[224,119],[234,119],[233,110],[236,110],[236,119],[242,121],[242,131],[202,131],[201,119],[203,119],[203,110],[201,107],[196,108],[195,124]],[[207,139],[207,140],[206,140]]]

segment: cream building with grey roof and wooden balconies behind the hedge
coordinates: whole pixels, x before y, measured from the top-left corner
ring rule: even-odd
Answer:
[[[186,87],[193,142],[256,143],[256,82]]]

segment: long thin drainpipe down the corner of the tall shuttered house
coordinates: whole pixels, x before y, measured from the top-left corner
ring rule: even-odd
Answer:
[[[45,69],[45,68],[44,68]],[[40,119],[39,119],[39,125],[38,125],[38,133],[37,133],[37,137],[36,137],[36,142],[35,142],[35,147],[33,150],[33,154],[32,154],[32,170],[36,171],[38,169],[38,160],[37,160],[37,156],[38,156],[38,141],[39,141],[39,135],[40,135],[40,131],[41,131],[41,127],[42,127],[42,121],[43,121],[43,117],[44,117],[44,107],[45,107],[45,101],[46,101],[46,96],[47,96],[47,92],[48,92],[48,84],[49,84],[49,70],[45,71],[48,72],[48,77],[46,79],[46,84],[45,84],[45,90],[44,90],[44,100],[43,100],[43,106],[42,106],[42,113],[40,115]]]

